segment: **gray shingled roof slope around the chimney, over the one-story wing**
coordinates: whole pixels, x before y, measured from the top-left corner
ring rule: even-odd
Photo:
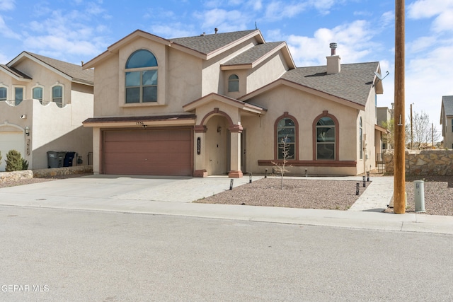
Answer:
[[[341,64],[338,74],[327,74],[325,65],[299,67],[287,71],[281,79],[365,106],[378,66],[379,62]]]

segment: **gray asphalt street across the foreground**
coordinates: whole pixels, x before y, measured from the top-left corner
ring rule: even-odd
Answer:
[[[453,235],[0,207],[0,301],[452,301]]]

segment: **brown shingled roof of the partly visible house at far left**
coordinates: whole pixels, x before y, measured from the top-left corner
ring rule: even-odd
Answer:
[[[91,86],[93,85],[93,82],[94,82],[93,69],[84,70],[84,69],[82,69],[82,67],[80,65],[63,62],[63,61],[60,61],[57,59],[52,59],[50,57],[45,57],[40,54],[33,54],[33,52],[23,52],[22,54],[28,54],[30,57],[34,57],[35,59],[38,59],[40,62],[46,64],[47,66],[57,69],[58,71],[62,72],[63,74],[66,74],[67,76],[69,76],[72,79],[72,81],[76,81],[79,83],[86,83],[87,85],[91,85]],[[19,56],[21,56],[21,54]],[[11,62],[15,62],[16,59],[14,59]],[[8,63],[8,67],[10,69],[11,69],[11,66],[9,66],[9,65],[11,64],[11,62]]]

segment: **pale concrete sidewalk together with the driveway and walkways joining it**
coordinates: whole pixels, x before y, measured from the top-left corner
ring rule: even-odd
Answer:
[[[253,181],[261,177],[253,177]],[[346,178],[304,178],[356,180]],[[393,178],[373,178],[349,211],[197,204],[194,200],[229,190],[229,178],[156,178],[91,175],[0,189],[0,204],[16,207],[120,211],[196,216],[313,226],[453,234],[452,216],[382,213],[393,194]],[[234,180],[234,186],[248,178]]]

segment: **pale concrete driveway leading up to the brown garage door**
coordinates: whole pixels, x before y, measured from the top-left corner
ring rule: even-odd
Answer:
[[[258,180],[255,177],[253,180]],[[40,202],[58,204],[81,202],[86,204],[130,205],[147,202],[193,202],[224,190],[229,190],[231,178],[89,175],[32,185],[6,187],[0,190],[1,204],[9,202]],[[233,186],[244,185],[248,178],[234,179]]]

